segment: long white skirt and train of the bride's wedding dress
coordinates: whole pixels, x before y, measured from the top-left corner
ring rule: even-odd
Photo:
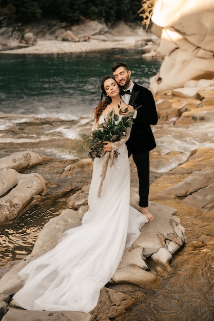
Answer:
[[[120,154],[107,168],[101,197],[97,193],[104,158],[95,158],[89,210],[82,225],[67,230],[55,248],[19,273],[25,284],[13,298],[23,308],[91,311],[100,290],[118,268],[124,249],[140,235],[147,219],[129,206],[130,167],[125,141],[114,145]]]

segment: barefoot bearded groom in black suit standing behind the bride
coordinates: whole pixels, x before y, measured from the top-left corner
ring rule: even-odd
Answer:
[[[153,220],[154,216],[148,211],[148,195],[149,151],[156,147],[150,125],[158,123],[154,98],[150,90],[131,81],[131,71],[125,63],[115,63],[112,72],[122,88],[121,95],[124,103],[128,105],[128,112],[134,113],[131,134],[126,145],[138,170],[140,210],[148,221]]]

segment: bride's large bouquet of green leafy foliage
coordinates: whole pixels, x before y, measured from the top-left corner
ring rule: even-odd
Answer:
[[[128,108],[125,109],[125,112]],[[88,147],[88,155],[94,160],[95,157],[103,156],[103,145],[105,141],[107,142],[118,142],[121,137],[125,137],[128,134],[128,129],[131,128],[132,119],[131,113],[123,116],[119,121],[119,115],[114,114],[111,110],[106,118],[105,122],[98,125],[98,129],[94,130],[91,135],[82,134],[81,138],[85,146]],[[117,157],[118,153],[114,151],[114,157]]]

